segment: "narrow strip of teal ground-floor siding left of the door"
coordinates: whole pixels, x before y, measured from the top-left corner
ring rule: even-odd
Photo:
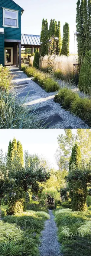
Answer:
[[[4,34],[0,33],[0,64],[5,65],[4,60]]]

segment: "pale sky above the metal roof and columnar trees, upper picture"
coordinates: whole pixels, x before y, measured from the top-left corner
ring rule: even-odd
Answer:
[[[77,0],[15,0],[24,12],[21,17],[21,33],[41,34],[42,19],[55,19],[61,22],[61,36],[65,22],[70,27],[70,53],[74,51],[74,33],[76,31]]]

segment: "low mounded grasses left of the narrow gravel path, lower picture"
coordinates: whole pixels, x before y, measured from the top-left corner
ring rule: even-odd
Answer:
[[[49,218],[46,212],[30,210],[5,216],[0,221],[0,255],[39,255],[39,237]]]

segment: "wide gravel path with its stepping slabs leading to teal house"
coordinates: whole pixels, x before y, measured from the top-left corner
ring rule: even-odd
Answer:
[[[14,90],[19,102],[22,103],[25,100],[24,105],[30,108],[30,113],[31,106],[34,112],[38,112],[35,116],[35,121],[41,120],[41,127],[43,125],[43,127],[45,126],[45,128],[49,129],[89,128],[79,117],[63,109],[59,103],[54,102],[54,95],[57,92],[45,92],[43,88],[32,81],[32,78],[28,78],[23,71],[11,70],[11,73],[15,75],[12,82],[15,85]]]

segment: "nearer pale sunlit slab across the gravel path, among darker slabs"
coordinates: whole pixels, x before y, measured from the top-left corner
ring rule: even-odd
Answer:
[[[40,95],[32,96],[32,97],[27,97],[26,99],[21,99],[20,103],[22,104],[24,102],[24,106],[31,106],[31,105],[36,105],[38,103],[42,103],[44,100],[41,98]]]

